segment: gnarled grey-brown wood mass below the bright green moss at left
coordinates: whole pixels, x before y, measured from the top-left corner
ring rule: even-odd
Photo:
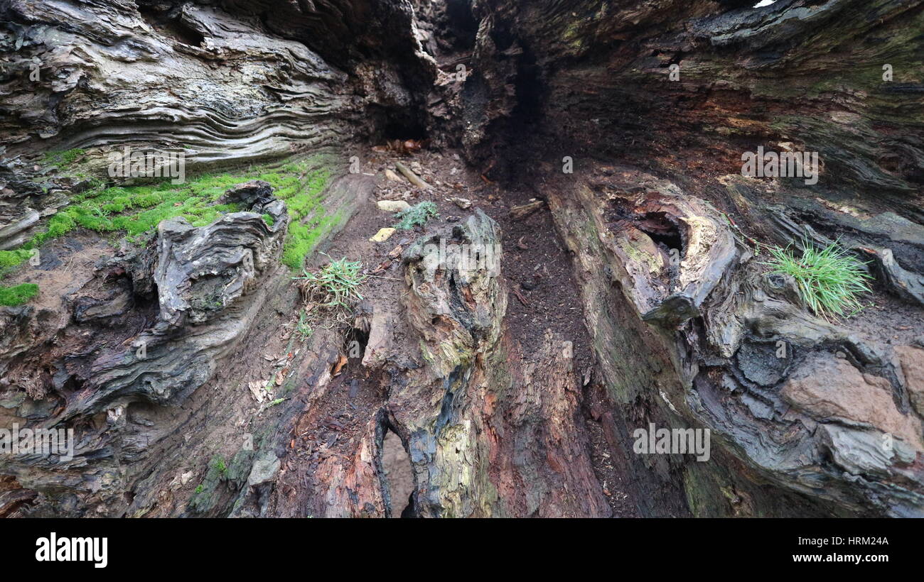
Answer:
[[[349,216],[370,184],[345,178],[325,204]],[[229,194],[247,196],[251,185]],[[255,408],[246,380],[284,370],[280,393],[296,398],[298,371],[319,360],[326,368],[337,348],[319,334],[312,351],[263,360],[263,353],[286,348],[271,322],[298,296],[277,262],[286,207],[256,185],[267,197],[255,199],[255,208],[273,216],[273,226],[258,212],[226,214],[200,228],[164,221],[147,248],[103,257],[91,276],[63,291],[62,303],[3,308],[4,337],[18,339],[3,351],[4,377],[7,386],[29,389],[28,396],[6,393],[6,423],[67,426],[77,441],[78,455],[68,462],[4,459],[16,479],[12,489],[37,493],[35,515],[224,515],[238,491],[262,484],[248,480],[275,458],[277,433],[298,409],[290,403],[271,411],[268,402]],[[128,301],[116,301],[110,290]],[[101,313],[81,316],[86,311],[76,306],[91,301]],[[210,465],[219,457],[225,471]]]

